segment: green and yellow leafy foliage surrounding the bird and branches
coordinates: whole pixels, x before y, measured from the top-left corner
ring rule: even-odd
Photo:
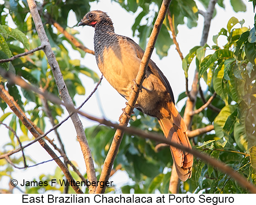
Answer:
[[[76,48],[62,33],[55,31],[53,25],[49,24],[44,12],[52,13],[52,18],[55,21],[66,28],[66,31],[75,35],[78,31],[67,27],[68,15],[71,10],[74,11],[79,21],[84,13],[90,10],[89,2],[91,1],[93,0],[50,0],[39,4],[44,29],[47,32],[72,98],[76,94],[85,94],[84,85],[80,80],[80,73],[92,78],[94,82],[97,82],[99,78],[96,73],[82,65],[79,59],[71,60],[68,48],[79,51],[81,57],[84,57],[85,52]],[[139,37],[141,47],[145,48],[162,1],[115,1],[129,12],[135,13],[139,11],[132,26],[132,31],[134,36]],[[197,26],[199,16],[198,3],[203,4],[207,9],[209,0],[172,0],[170,12],[176,33],[178,33],[178,25],[186,24],[189,28]],[[241,0],[230,0],[230,3],[236,12],[245,11],[246,9]],[[225,8],[223,0],[218,0],[218,5]],[[255,7],[255,0],[253,0],[253,5]],[[40,46],[40,40],[25,0],[6,0],[4,4],[0,4],[0,10],[2,11],[0,18],[0,59],[6,59]],[[214,15],[217,15],[216,11]],[[17,28],[9,27],[9,17],[12,18]],[[218,44],[218,37],[221,35],[227,38],[227,44]],[[236,17],[232,17],[229,21],[227,20],[227,27],[222,28],[219,33],[213,36],[215,45],[212,47],[207,44],[203,47],[195,46],[191,48],[182,61],[182,68],[187,77],[188,69],[194,63],[193,59],[195,59],[199,77],[207,85],[207,91],[204,92],[206,100],[216,92],[217,96],[212,101],[212,105],[221,110],[216,112],[208,108],[194,116],[192,130],[214,124],[213,132],[193,139],[194,148],[225,162],[252,183],[256,183],[256,151],[254,146],[256,144],[254,123],[256,122],[255,36],[255,28],[250,30],[243,27],[243,22],[239,22]],[[66,43],[71,47],[67,46]],[[169,22],[165,20],[155,46],[160,58],[168,55],[168,50],[172,44]],[[29,83],[41,87],[56,96],[59,95],[52,71],[43,51],[34,52],[29,56],[20,57],[8,63],[1,63],[0,66],[21,76]],[[45,112],[40,96],[34,92],[21,89],[2,77],[0,78],[0,83],[13,96],[31,121],[44,131],[48,115]],[[185,97],[185,92],[181,93],[178,101]],[[203,104],[203,100],[198,97],[195,109],[199,109]],[[0,100],[0,107],[3,111],[0,122],[7,122],[9,119],[9,126],[14,131],[21,133],[19,134],[21,142],[31,141],[32,139],[28,135],[26,127],[18,120],[16,115],[9,112],[3,100]],[[55,123],[57,123],[64,112],[63,109],[51,103],[49,103],[49,109]],[[185,105],[181,114],[184,109]],[[149,132],[162,133],[156,119],[146,116],[138,110],[135,110],[129,125]],[[92,150],[97,174],[99,174],[115,130],[106,126],[92,126],[86,128],[85,133]],[[1,146],[3,151],[0,151],[0,154],[19,147],[12,131],[9,131],[9,142],[1,144]],[[172,165],[170,150],[168,147],[163,147],[156,152],[155,146],[156,143],[154,141],[144,140],[138,136],[124,135],[114,163],[115,170],[126,172],[130,178],[130,181],[121,188],[123,193],[168,193],[171,175],[170,167]],[[15,165],[22,164],[21,155],[10,158]],[[36,164],[29,156],[26,156],[26,159]],[[0,180],[4,176],[11,179],[13,173],[13,167],[6,161],[0,160]],[[75,172],[71,171],[71,174],[76,180],[79,180]],[[86,176],[86,174],[84,175]],[[54,174],[42,174],[35,180],[50,181],[51,179],[63,179],[63,177],[60,169],[56,168]],[[42,188],[38,186],[26,188],[25,192],[40,193],[49,190],[63,192],[63,187]],[[83,191],[88,192],[88,189]],[[113,187],[106,190],[106,192],[118,191]],[[180,193],[197,193],[199,191],[203,193],[247,193],[228,175],[223,174],[203,161],[195,159],[192,178],[181,183]],[[70,189],[69,192],[73,193],[73,190]]]

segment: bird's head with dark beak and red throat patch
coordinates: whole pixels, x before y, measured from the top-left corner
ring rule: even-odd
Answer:
[[[85,14],[78,26],[97,26],[98,24],[105,24],[113,26],[110,17],[103,11],[94,10]]]

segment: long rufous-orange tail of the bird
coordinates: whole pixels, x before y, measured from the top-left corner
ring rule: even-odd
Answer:
[[[163,118],[159,119],[158,122],[164,136],[174,143],[191,148],[190,141],[186,135],[187,127],[175,105],[172,102],[168,102],[160,112]],[[193,155],[172,146],[170,146],[170,149],[177,174],[182,181],[186,181],[192,175]]]

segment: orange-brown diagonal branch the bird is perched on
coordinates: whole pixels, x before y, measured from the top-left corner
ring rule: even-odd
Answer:
[[[163,0],[163,2],[162,2],[158,16],[154,23],[153,31],[149,38],[149,42],[147,44],[145,53],[141,59],[141,64],[140,64],[138,74],[135,79],[137,86],[136,85],[133,86],[134,92],[131,92],[127,106],[124,109],[124,113],[120,117],[120,123],[119,123],[120,126],[127,126],[128,122],[129,122],[130,116],[132,114],[132,110],[134,109],[136,100],[137,100],[139,92],[141,90],[142,82],[144,80],[144,76],[146,73],[146,68],[150,61],[151,54],[154,50],[154,44],[156,42],[157,36],[159,35],[161,26],[163,24],[163,20],[166,16],[166,13],[167,13],[170,3],[171,3],[171,0]],[[109,152],[107,153],[106,159],[104,161],[104,166],[103,166],[99,181],[103,181],[103,182],[108,181],[108,179],[110,177],[111,170],[112,170],[112,166],[113,166],[115,157],[117,155],[119,146],[121,144],[121,141],[123,139],[123,136],[124,136],[124,131],[118,129],[115,132],[114,139],[112,141],[112,144],[110,145]],[[96,188],[95,193],[104,193],[105,190],[106,190],[106,186],[104,186],[103,188],[98,186]]]

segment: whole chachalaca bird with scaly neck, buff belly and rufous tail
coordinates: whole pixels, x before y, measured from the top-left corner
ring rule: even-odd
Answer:
[[[94,52],[99,70],[105,79],[126,100],[132,92],[143,49],[132,39],[115,34],[107,13],[93,10],[85,14],[78,26],[94,28]],[[135,108],[158,119],[163,134],[177,144],[191,148],[186,124],[175,107],[172,88],[162,71],[150,59]],[[193,155],[170,146],[179,179],[192,175]]]

